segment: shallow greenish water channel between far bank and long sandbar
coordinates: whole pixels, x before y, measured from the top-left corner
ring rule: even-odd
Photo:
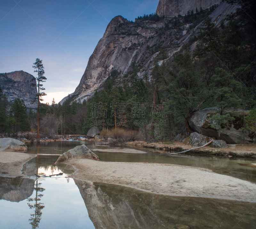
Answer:
[[[37,154],[62,154],[68,149],[72,149],[77,145],[86,144],[93,151],[95,148],[106,149],[108,147],[100,146],[99,143],[93,141],[56,141],[44,142],[40,145],[30,145],[28,153]],[[121,147],[122,148],[122,147]],[[129,148],[126,147],[125,148]],[[39,149],[39,151],[38,151]],[[183,155],[183,156],[163,156],[162,150],[134,148],[143,150],[147,154],[130,154],[130,153],[111,153],[111,152],[94,152],[103,161],[115,162],[149,162],[149,163],[168,163],[179,164],[193,167],[210,169],[213,172],[233,176],[239,179],[248,180],[256,183],[256,169],[253,167],[243,166],[241,164],[255,163],[255,159],[251,158],[226,158],[223,156],[202,156],[202,155]],[[40,156],[40,155],[39,155]],[[53,156],[52,156],[53,157]],[[56,160],[58,155],[56,155]],[[54,163],[54,162],[53,162]],[[72,167],[60,165],[59,168],[66,169],[66,173],[72,173]]]

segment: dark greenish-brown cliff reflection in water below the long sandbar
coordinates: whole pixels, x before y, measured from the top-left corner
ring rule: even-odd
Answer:
[[[255,203],[156,195],[77,179],[75,183],[95,228],[253,228],[256,225]]]

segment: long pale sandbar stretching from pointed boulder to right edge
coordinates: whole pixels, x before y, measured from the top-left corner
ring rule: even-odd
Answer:
[[[256,202],[256,184],[210,170],[174,164],[102,162],[71,159],[74,178],[112,183],[142,191]]]

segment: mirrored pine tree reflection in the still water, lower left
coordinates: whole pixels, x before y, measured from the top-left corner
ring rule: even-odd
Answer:
[[[35,209],[33,214],[30,214],[30,218],[28,221],[29,224],[32,226],[32,229],[36,229],[39,226],[41,216],[42,216],[42,209],[44,208],[43,203],[40,202],[41,197],[43,194],[40,194],[40,192],[43,192],[45,188],[40,187],[42,183],[38,183],[36,181],[36,187],[34,187],[34,190],[36,191],[36,197],[35,198],[28,198],[28,206],[30,209]]]

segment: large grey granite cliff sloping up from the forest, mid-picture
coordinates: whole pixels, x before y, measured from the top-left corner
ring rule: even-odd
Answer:
[[[161,2],[159,5],[162,4]],[[186,3],[183,2],[183,4]],[[205,3],[206,7],[220,1],[209,1],[209,4],[207,1],[205,2],[207,3]],[[160,11],[159,7],[158,11]],[[182,6],[183,11],[186,7]],[[210,17],[218,26],[232,11],[234,11],[234,7],[224,2],[211,13]],[[129,71],[134,67],[139,69],[137,74],[140,78],[145,74],[150,77],[155,62],[159,65],[163,63],[160,50],[164,49],[165,60],[172,58],[174,53],[193,38],[201,23],[201,21],[199,23],[193,21],[184,23],[182,21],[177,25],[175,18],[167,17],[160,18],[158,21],[136,19],[135,22],[132,22],[122,16],[115,17],[108,24],[103,37],[89,58],[82,79],[71,96],[81,102],[87,100],[96,89],[102,88],[112,70],[120,72],[116,85],[122,84],[123,76],[127,73],[129,75]],[[196,47],[196,41],[189,45],[192,51]],[[62,99],[60,103],[63,103],[66,98]]]

